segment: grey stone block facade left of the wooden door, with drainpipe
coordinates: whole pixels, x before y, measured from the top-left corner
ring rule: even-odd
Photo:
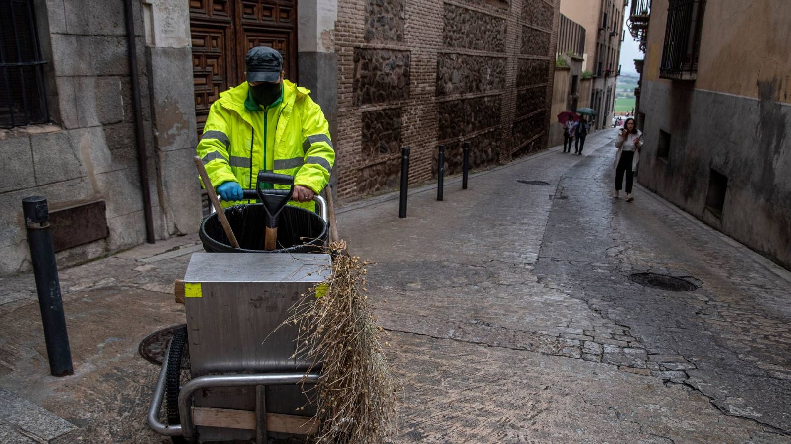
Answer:
[[[0,152],[9,167],[0,179],[6,209],[0,216],[0,275],[30,268],[21,213],[21,199],[28,196],[49,201],[60,265],[123,250],[149,236],[197,230],[199,187],[184,167],[195,146],[189,27],[146,26],[146,12],[162,6],[152,3],[131,2],[148,160],[144,183],[123,2],[3,2],[4,45],[21,48],[6,61],[41,68],[19,76],[13,66],[3,66],[9,77],[0,91]],[[9,15],[13,21],[6,21]],[[31,89],[37,80],[38,91]],[[37,104],[33,96],[43,99],[43,115],[20,119],[20,111]]]

